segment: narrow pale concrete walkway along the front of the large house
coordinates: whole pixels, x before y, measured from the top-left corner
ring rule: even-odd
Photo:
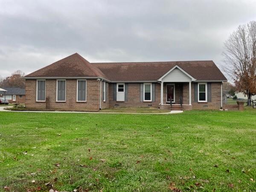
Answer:
[[[175,113],[183,113],[183,111],[170,111],[167,113],[117,113],[117,112],[85,112],[85,111],[9,111],[5,110],[7,106],[1,106],[0,111],[5,111],[5,112],[29,112],[29,113],[112,113],[112,114],[147,114],[147,115],[156,115],[156,114],[175,114]]]

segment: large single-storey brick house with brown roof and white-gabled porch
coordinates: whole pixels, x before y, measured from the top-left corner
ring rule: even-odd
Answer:
[[[220,109],[227,81],[213,61],[90,63],[77,53],[25,79],[27,108],[68,111]]]

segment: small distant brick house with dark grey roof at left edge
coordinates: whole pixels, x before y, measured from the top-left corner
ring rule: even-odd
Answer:
[[[10,103],[25,103],[25,89],[20,87],[3,87],[4,91],[0,91],[0,97],[6,98]]]

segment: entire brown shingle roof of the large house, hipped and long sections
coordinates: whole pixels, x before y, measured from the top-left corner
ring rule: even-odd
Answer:
[[[213,61],[90,63],[75,53],[25,77],[102,77],[109,81],[157,81],[175,66],[197,81],[226,81]]]

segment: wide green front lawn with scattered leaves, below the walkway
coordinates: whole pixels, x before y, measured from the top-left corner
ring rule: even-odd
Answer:
[[[255,179],[256,110],[0,112],[0,191],[249,192]]]

